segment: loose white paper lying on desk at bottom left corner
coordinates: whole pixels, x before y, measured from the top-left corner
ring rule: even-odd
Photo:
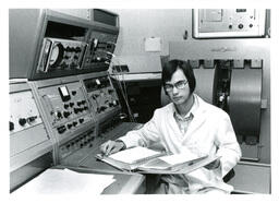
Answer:
[[[48,169],[11,195],[20,198],[33,194],[100,194],[114,182],[113,175],[78,174],[69,169]]]

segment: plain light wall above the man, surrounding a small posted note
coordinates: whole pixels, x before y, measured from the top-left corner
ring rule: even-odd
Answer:
[[[120,16],[120,34],[114,63],[128,64],[130,72],[156,72],[161,70],[160,56],[169,55],[170,40],[184,40],[187,29],[192,35],[190,9],[111,10]],[[146,52],[144,38],[160,37],[160,52]]]

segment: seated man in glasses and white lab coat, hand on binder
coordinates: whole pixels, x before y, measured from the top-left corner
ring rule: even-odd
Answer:
[[[187,175],[161,176],[156,193],[230,193],[233,188],[222,178],[239,162],[241,150],[229,116],[194,94],[195,76],[185,61],[171,60],[162,67],[162,85],[172,103],[156,109],[142,129],[104,143],[100,151],[108,155],[157,144],[173,154],[221,156]]]

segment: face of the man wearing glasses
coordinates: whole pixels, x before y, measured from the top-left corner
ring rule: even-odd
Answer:
[[[185,104],[191,95],[187,79],[181,69],[178,69],[171,80],[166,82],[165,89],[175,105]]]

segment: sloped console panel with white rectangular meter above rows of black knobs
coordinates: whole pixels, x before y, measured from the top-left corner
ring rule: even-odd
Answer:
[[[53,83],[49,85],[47,82],[38,82],[38,95],[47,120],[61,141],[87,126],[93,118],[80,81],[54,80]]]

